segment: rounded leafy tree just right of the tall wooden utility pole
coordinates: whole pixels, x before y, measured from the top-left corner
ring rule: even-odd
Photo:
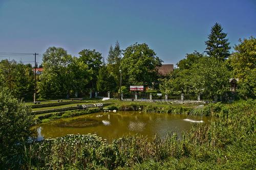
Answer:
[[[60,47],[49,47],[42,58],[44,72],[38,82],[40,96],[43,99],[63,98],[69,93],[70,78],[68,65],[72,56]]]

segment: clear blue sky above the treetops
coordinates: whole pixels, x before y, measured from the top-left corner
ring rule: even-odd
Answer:
[[[106,58],[118,40],[123,50],[146,43],[163,64],[176,64],[186,54],[205,51],[216,22],[231,47],[239,38],[256,37],[256,1],[0,0],[0,60],[33,61],[30,53],[38,53],[41,62],[49,46],[77,57],[95,49]]]

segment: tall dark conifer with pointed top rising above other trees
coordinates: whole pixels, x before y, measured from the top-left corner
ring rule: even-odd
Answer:
[[[205,41],[206,53],[210,57],[215,57],[219,60],[225,60],[229,56],[229,42],[226,39],[227,34],[222,32],[222,27],[219,23],[215,23],[214,27],[211,27],[211,32],[208,35],[208,40]]]

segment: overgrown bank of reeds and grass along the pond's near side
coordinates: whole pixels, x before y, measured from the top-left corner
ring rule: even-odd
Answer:
[[[255,104],[247,101],[204,107],[203,114],[218,118],[194,126],[182,139],[172,132],[165,139],[156,135],[152,141],[126,136],[108,143],[88,134],[34,142],[24,152],[23,168],[254,169]]]

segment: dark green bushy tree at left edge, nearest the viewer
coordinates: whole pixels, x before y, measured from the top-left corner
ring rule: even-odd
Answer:
[[[13,98],[7,88],[0,90],[0,169],[19,169],[23,143],[34,124],[31,107]]]

